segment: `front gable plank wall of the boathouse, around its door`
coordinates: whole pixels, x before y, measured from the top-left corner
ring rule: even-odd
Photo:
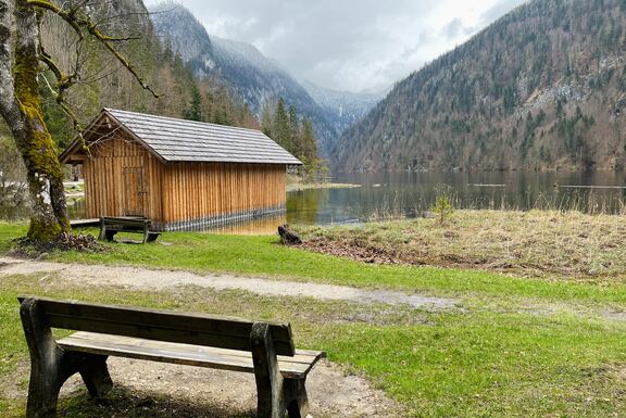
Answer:
[[[86,216],[123,216],[124,167],[143,167],[145,216],[161,217],[161,178],[163,166],[142,147],[122,138],[111,139],[91,149],[92,159],[84,162]]]

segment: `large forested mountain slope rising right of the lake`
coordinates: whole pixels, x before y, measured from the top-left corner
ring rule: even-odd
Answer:
[[[396,85],[335,167],[619,169],[626,1],[535,0]]]

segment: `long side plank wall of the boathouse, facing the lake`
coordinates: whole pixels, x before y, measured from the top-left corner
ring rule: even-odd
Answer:
[[[163,182],[166,223],[285,205],[286,166],[170,163]]]

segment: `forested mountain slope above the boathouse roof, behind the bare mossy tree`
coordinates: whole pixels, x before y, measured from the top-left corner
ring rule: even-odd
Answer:
[[[117,42],[117,46],[162,97],[154,99],[142,90],[101,45],[89,39],[77,42],[66,24],[52,16],[42,28],[45,48],[67,74],[79,66],[80,83],[73,87],[67,99],[83,124],[86,125],[102,107],[113,107],[259,128],[258,121],[242,102],[229,96],[224,84],[198,81],[183,60],[161,45],[141,0],[101,2],[90,7],[90,14],[100,22],[99,28],[105,34],[137,37]],[[75,131],[46,87],[46,80],[52,83],[53,77],[43,76],[40,90],[46,99],[46,119],[62,149],[74,138]]]

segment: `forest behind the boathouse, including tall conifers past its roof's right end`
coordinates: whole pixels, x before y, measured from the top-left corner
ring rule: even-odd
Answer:
[[[114,8],[115,10],[111,10]],[[159,38],[153,30],[150,15],[141,1],[107,3],[95,11],[96,16],[117,16],[104,20],[102,29],[118,37],[132,38],[120,43],[121,51],[138,68],[149,86],[161,97],[153,96],[139,86],[120,63],[111,60],[104,48],[96,41],[78,42],[57,16],[48,16],[42,25],[46,51],[60,61],[64,68],[78,68],[80,83],[67,92],[67,102],[85,127],[102,107],[122,109],[220,125],[261,129],[260,115],[253,114],[223,79],[217,76],[198,76],[192,63],[185,62],[175,52],[168,39]],[[78,45],[80,47],[78,48]],[[45,119],[61,152],[76,136],[73,122],[58,105],[51,86],[53,75],[43,73],[40,94],[43,99]],[[306,173],[321,167],[315,132],[309,119],[287,115],[287,129],[283,112],[273,125],[264,126],[283,147],[305,163]],[[276,105],[276,101],[273,102]],[[268,104],[270,106],[270,104]],[[291,109],[293,111],[293,109]],[[274,112],[274,111],[272,111]],[[289,118],[290,117],[290,118]],[[296,121],[298,118],[298,121]],[[288,131],[288,135],[285,132]],[[9,131],[0,124],[0,136]],[[306,143],[306,144],[304,144]],[[0,152],[13,155],[12,141],[0,142]],[[17,164],[18,165],[18,164]],[[18,170],[18,167],[15,168]]]

